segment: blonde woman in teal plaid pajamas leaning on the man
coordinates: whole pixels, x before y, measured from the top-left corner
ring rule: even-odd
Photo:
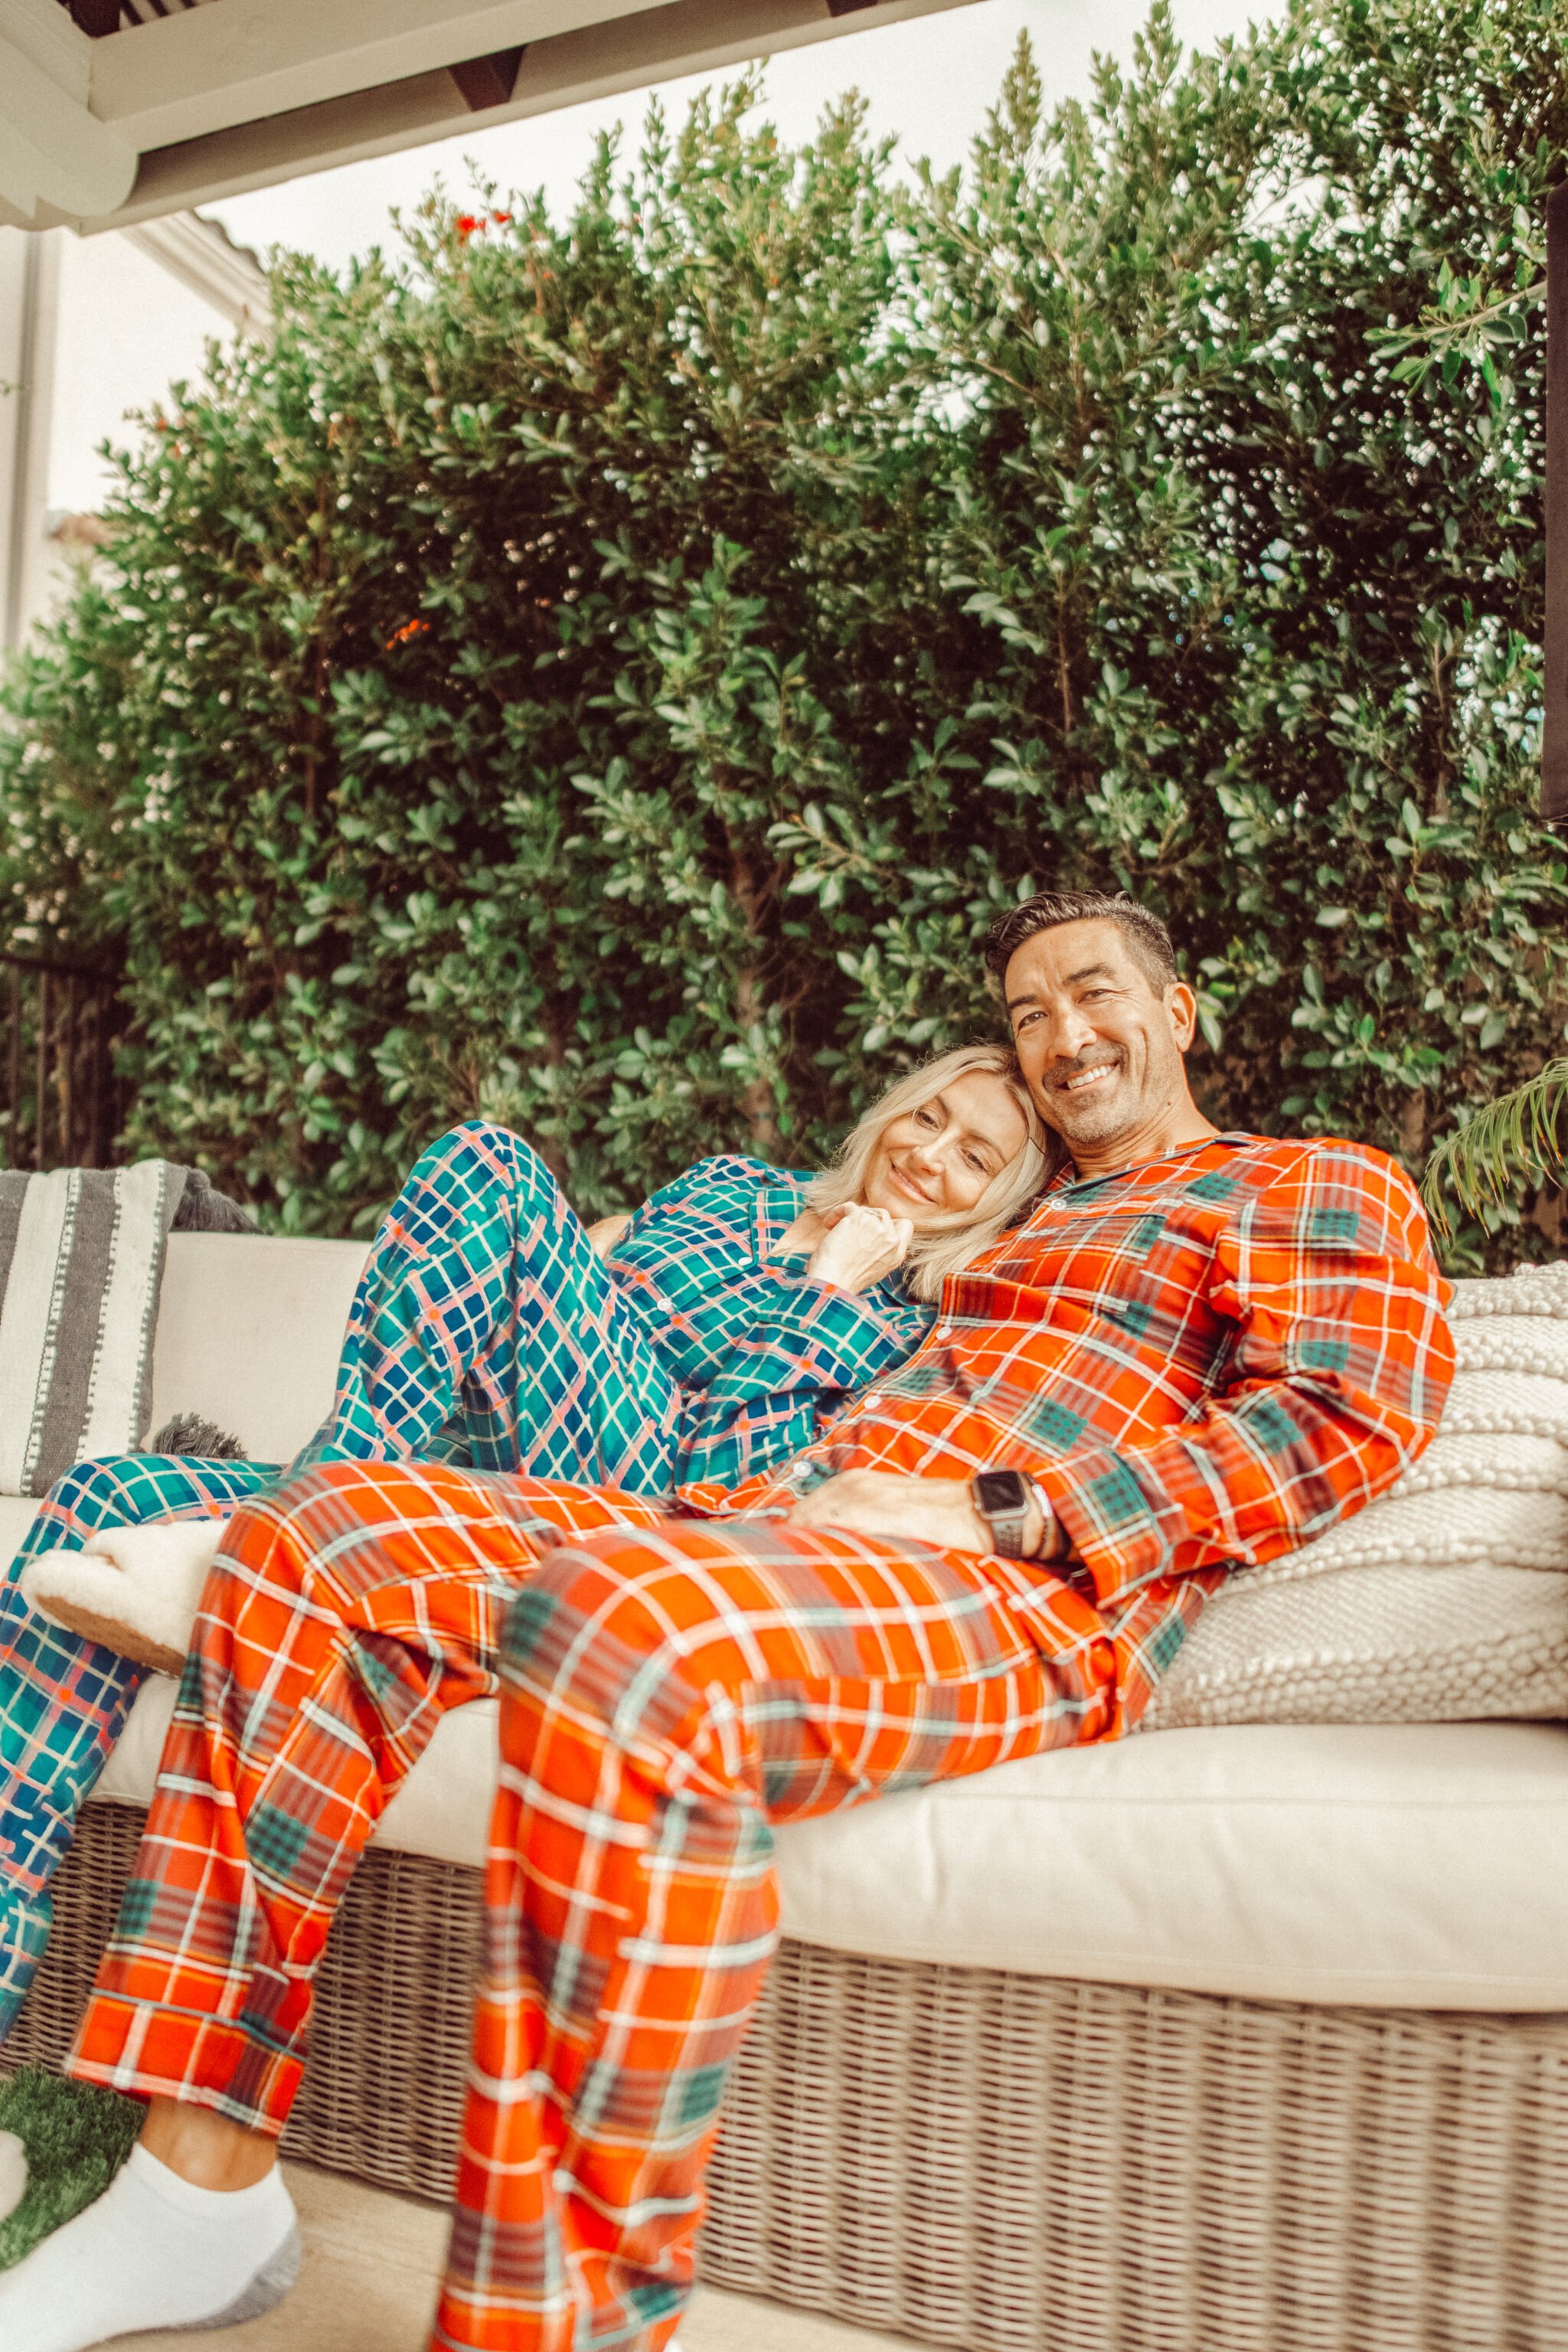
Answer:
[[[376,1232],[331,1416],[299,1463],[435,1458],[642,1496],[738,1484],[919,1345],[943,1275],[1041,1178],[1041,1127],[1004,1047],[900,1080],[827,1174],[703,1160],[597,1228],[520,1136],[458,1127]],[[75,1809],[141,1682],[28,1611],[16,1576],[101,1526],[228,1512],[277,1475],[125,1456],[80,1463],[40,1505],[0,1592],[0,2037]]]

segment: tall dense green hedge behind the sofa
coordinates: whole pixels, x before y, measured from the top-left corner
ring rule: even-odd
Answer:
[[[1187,943],[1218,1117],[1418,1167],[1563,1037],[1561,14],[1157,9],[1088,113],[1020,54],[964,188],[755,96],[562,226],[284,261],[122,461],[7,691],[0,924],[122,964],[129,1141],[294,1230],[475,1110],[585,1209],[802,1160],[1060,877]]]

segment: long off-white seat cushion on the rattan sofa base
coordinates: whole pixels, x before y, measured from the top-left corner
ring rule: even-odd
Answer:
[[[101,1780],[146,1802],[150,1682]],[[381,1842],[482,1865],[496,1703],[444,1717]],[[1244,1724],[1001,1764],[778,1832],[785,1933],[1112,1985],[1568,2009],[1568,1731]]]

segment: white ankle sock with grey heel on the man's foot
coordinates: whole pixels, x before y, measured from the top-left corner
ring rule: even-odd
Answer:
[[[96,2204],[0,2270],[0,2345],[87,2352],[136,2328],[226,2326],[280,2303],[296,2274],[277,2166],[249,2190],[197,2190],[132,2147]]]

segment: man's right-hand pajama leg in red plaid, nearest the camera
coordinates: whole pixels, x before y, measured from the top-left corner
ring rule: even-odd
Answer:
[[[505,1635],[442,2352],[668,2345],[778,1936],[773,1823],[1103,1736],[1095,1613],[788,1524],[552,1552]]]

